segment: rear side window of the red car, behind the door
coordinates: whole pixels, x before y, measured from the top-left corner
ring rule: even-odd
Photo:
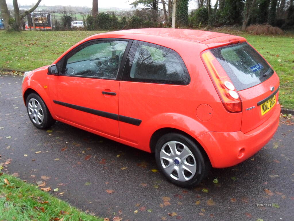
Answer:
[[[190,75],[180,55],[172,49],[133,41],[122,80],[188,85]]]

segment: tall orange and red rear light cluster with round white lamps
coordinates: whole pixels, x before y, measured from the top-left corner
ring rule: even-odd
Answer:
[[[203,52],[201,57],[225,109],[231,113],[242,112],[242,100],[216,57],[209,50]]]

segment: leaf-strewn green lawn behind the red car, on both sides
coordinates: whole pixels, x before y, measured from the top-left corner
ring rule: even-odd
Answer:
[[[26,71],[50,65],[76,42],[97,33],[101,31],[0,31],[0,68]],[[294,109],[294,36],[235,34],[245,37],[273,66],[280,77],[280,103]]]

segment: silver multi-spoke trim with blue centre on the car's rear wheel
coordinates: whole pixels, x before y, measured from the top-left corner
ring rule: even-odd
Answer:
[[[164,171],[175,180],[185,182],[192,179],[196,173],[195,157],[181,142],[169,141],[164,144],[160,151],[160,161]]]

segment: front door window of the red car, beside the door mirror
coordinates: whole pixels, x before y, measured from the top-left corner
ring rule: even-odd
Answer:
[[[64,75],[116,79],[128,41],[99,40],[83,44],[66,57]]]

